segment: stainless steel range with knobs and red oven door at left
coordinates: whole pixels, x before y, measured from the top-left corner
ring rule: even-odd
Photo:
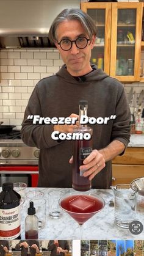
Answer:
[[[12,181],[37,186],[39,152],[24,144],[20,131],[0,134],[0,185]]]

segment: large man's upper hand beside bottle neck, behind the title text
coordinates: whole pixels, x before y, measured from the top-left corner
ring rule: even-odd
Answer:
[[[76,117],[79,120],[79,115],[71,114],[70,117]],[[74,129],[79,126],[79,121],[76,121],[75,125],[54,125],[54,131],[59,131],[60,133],[73,133]]]

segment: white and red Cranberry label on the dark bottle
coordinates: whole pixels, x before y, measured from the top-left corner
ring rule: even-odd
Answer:
[[[15,239],[20,232],[20,205],[11,209],[0,209],[0,239]]]

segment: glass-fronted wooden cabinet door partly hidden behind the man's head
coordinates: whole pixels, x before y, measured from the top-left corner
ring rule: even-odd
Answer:
[[[101,2],[82,2],[81,9],[95,21],[98,27],[91,62],[110,73],[110,26],[112,4]]]

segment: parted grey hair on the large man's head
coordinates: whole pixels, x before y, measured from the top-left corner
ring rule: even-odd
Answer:
[[[81,9],[64,9],[54,19],[49,29],[48,37],[52,43],[57,41],[57,26],[65,20],[77,20],[81,22],[82,27],[84,27],[84,30],[88,34],[90,40],[92,40],[93,35],[96,35],[97,27],[92,18],[87,13],[83,12]]]

